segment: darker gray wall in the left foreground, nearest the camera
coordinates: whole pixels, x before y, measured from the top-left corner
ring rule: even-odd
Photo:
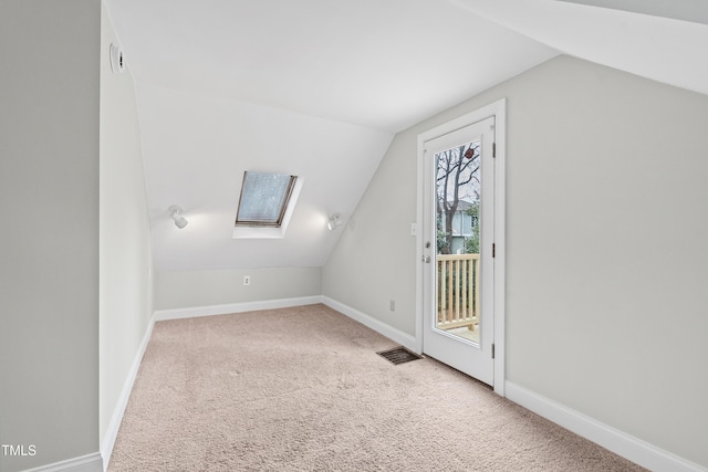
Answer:
[[[0,2],[0,443],[37,450],[2,471],[98,451],[100,28]]]

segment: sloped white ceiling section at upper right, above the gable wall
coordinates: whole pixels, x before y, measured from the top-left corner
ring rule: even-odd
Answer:
[[[564,54],[708,94],[708,25],[554,0],[449,0]]]

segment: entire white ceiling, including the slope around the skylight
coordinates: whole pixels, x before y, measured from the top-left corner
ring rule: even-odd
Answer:
[[[326,216],[352,214],[396,132],[559,52],[708,93],[708,27],[566,1],[107,7],[136,83],[158,270],[322,265],[343,230]],[[244,170],[304,179],[284,239],[231,238]]]

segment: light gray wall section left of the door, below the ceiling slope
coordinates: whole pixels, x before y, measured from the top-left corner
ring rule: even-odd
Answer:
[[[416,155],[417,134],[396,135],[322,270],[323,295],[409,335],[416,313]]]

